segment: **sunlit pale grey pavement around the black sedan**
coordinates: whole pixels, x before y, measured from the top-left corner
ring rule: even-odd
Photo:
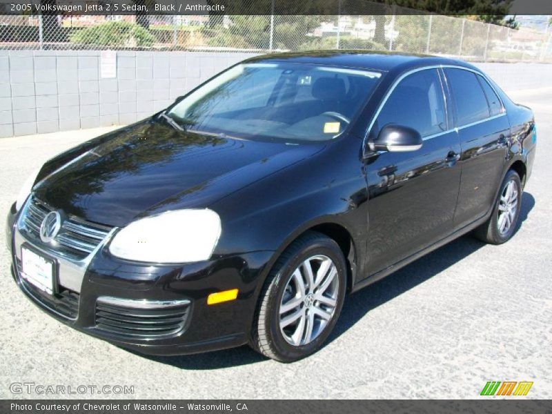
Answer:
[[[331,342],[295,364],[247,347],[144,357],[88,337],[23,296],[2,249],[0,397],[57,397],[10,392],[34,382],[133,386],[126,397],[136,398],[449,399],[477,397],[489,380],[526,380],[527,397],[552,398],[552,89],[513,96],[535,110],[539,131],[515,237],[502,246],[462,237],[348,297]],[[33,168],[100,132],[1,139],[0,210]]]

